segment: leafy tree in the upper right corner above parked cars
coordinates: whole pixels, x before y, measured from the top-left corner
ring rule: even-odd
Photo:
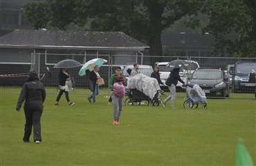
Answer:
[[[256,0],[208,0],[202,10],[210,17],[203,32],[213,34],[214,54],[255,57]],[[229,39],[228,34],[237,34]]]

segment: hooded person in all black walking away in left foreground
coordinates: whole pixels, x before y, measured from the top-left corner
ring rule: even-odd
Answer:
[[[19,100],[16,106],[18,112],[21,111],[21,105],[24,103],[24,112],[26,117],[25,132],[23,141],[30,142],[30,135],[33,127],[33,140],[35,143],[42,141],[41,137],[41,116],[43,113],[43,103],[46,98],[46,90],[44,85],[39,81],[39,77],[35,70],[30,70],[28,79],[24,83]]]

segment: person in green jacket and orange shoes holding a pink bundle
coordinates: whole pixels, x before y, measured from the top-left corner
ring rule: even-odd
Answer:
[[[113,124],[114,125],[119,125],[119,118],[121,116],[121,112],[122,112],[122,103],[123,103],[123,99],[124,96],[117,96],[115,93],[118,93],[118,90],[116,90],[113,85],[114,83],[120,81],[120,79],[124,79],[125,80],[125,75],[121,74],[121,67],[118,66],[115,70],[116,74],[112,74],[110,77],[110,81],[109,81],[109,87],[111,90],[111,98],[113,100]],[[123,85],[127,86],[127,82],[123,81],[122,83]]]

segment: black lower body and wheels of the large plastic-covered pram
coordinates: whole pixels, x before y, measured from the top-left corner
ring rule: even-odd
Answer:
[[[143,101],[149,106],[158,106],[161,103],[161,90],[158,90],[153,99],[136,89],[127,90],[125,105],[140,105]]]

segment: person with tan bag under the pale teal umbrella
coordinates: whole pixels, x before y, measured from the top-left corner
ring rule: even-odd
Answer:
[[[89,79],[93,83],[93,86],[91,88],[91,91],[93,94],[88,97],[88,101],[91,103],[91,98],[93,98],[93,103],[96,103],[96,96],[99,94],[99,86],[98,86],[98,79],[100,79],[100,74],[99,74],[100,66],[95,65],[94,70],[90,72],[89,74]]]

